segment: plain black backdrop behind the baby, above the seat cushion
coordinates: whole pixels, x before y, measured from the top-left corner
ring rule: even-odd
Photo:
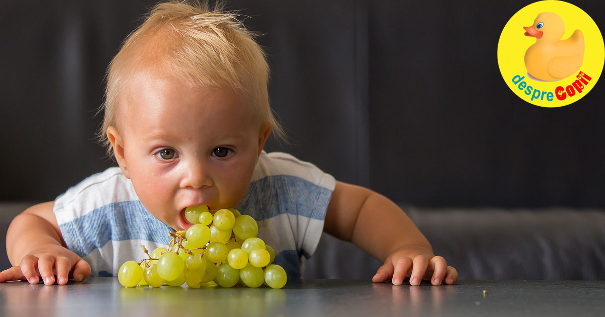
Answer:
[[[155,2],[3,1],[0,200],[53,200],[113,164],[94,142],[103,75]],[[290,137],[267,151],[410,205],[605,208],[602,80],[575,103],[543,108],[500,75],[500,33],[531,2],[227,7],[263,33],[271,104]],[[603,30],[603,1],[572,3]]]

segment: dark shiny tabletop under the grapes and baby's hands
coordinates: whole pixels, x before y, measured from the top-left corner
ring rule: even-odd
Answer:
[[[289,281],[283,289],[124,288],[117,278],[65,286],[0,284],[2,316],[603,316],[603,299],[605,281],[393,286],[306,280]]]

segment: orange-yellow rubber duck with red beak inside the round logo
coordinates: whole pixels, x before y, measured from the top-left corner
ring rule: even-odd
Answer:
[[[555,13],[538,14],[531,27],[523,27],[525,36],[536,38],[535,44],[525,52],[525,68],[541,80],[560,80],[574,74],[584,59],[584,36],[575,30],[569,39],[561,40],[565,33],[563,19]]]

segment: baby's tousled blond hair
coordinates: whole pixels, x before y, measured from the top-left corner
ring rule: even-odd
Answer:
[[[132,31],[111,60],[106,74],[103,124],[99,141],[112,155],[106,136],[116,126],[120,88],[130,72],[150,66],[167,66],[175,77],[192,86],[233,88],[249,96],[255,114],[272,127],[272,134],[284,141],[283,128],[269,106],[269,65],[255,34],[223,11],[218,1],[211,10],[208,2],[169,1],[155,5],[145,22]]]

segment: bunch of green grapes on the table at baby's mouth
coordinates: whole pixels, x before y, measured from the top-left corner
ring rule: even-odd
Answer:
[[[201,205],[185,209],[186,219],[194,223],[186,231],[168,232],[168,248],[157,248],[139,262],[126,261],[118,280],[124,287],[164,284],[247,287],[266,284],[274,289],[286,285],[286,271],[271,264],[275,251],[257,238],[256,220],[234,208],[208,210]]]

